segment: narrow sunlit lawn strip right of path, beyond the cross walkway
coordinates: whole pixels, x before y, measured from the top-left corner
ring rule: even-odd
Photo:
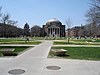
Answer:
[[[100,39],[70,39],[69,43],[67,40],[63,41],[54,41],[54,45],[100,45]]]

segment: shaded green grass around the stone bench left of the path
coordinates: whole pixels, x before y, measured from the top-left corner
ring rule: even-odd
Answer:
[[[0,46],[0,49],[3,49],[3,48],[14,48],[15,50],[12,52],[12,54],[9,54],[7,56],[13,56],[13,55],[15,56],[30,47],[29,46]],[[0,56],[6,56],[6,55],[4,55],[2,52],[0,52]]]

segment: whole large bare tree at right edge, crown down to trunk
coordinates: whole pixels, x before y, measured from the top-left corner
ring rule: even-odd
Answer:
[[[86,13],[86,17],[90,24],[91,36],[96,36],[98,25],[100,25],[100,0],[91,0],[91,7]]]

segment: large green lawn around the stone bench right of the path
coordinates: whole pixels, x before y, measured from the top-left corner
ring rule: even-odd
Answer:
[[[61,56],[63,58],[100,60],[100,47],[52,47],[52,49],[67,50],[68,52],[66,53],[66,56]],[[55,57],[53,54],[50,55],[51,57]]]

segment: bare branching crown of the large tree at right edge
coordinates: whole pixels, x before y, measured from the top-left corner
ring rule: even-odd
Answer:
[[[91,0],[91,7],[86,13],[89,23],[100,24],[100,0]]]

